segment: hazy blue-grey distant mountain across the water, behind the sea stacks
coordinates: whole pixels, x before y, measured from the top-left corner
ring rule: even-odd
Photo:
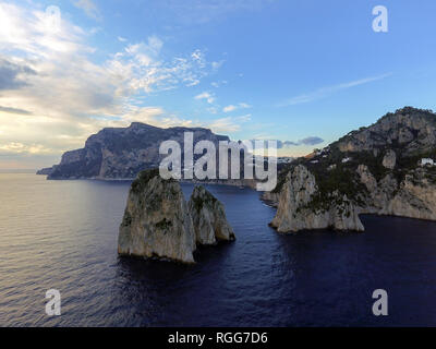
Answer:
[[[173,140],[184,145],[184,132],[194,133],[194,143],[207,140],[218,145],[229,137],[199,128],[160,129],[133,122],[129,128],[104,129],[92,135],[85,147],[63,154],[48,179],[131,179],[144,169],[159,166],[159,145]]]

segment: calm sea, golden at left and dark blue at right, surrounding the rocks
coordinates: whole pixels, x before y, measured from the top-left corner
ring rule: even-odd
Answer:
[[[436,326],[435,222],[367,216],[364,234],[280,236],[257,192],[208,186],[234,243],[201,249],[195,266],[119,258],[129,185],[0,173],[0,325]],[[372,315],[377,288],[387,317]]]

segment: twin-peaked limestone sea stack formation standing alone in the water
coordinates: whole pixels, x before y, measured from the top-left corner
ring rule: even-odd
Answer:
[[[234,240],[222,204],[204,188],[194,189],[186,204],[180,184],[158,170],[138,174],[132,183],[120,225],[118,253],[194,263],[197,244]]]

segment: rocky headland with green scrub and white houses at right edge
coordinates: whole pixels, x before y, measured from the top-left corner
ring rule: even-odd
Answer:
[[[389,113],[282,173],[271,226],[362,231],[365,213],[436,220],[436,167],[422,158],[436,159],[436,115]]]

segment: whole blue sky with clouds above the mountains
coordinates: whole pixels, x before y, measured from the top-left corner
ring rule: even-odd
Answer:
[[[435,14],[433,0],[0,0],[0,169],[51,166],[133,121],[301,156],[388,111],[436,110]]]

